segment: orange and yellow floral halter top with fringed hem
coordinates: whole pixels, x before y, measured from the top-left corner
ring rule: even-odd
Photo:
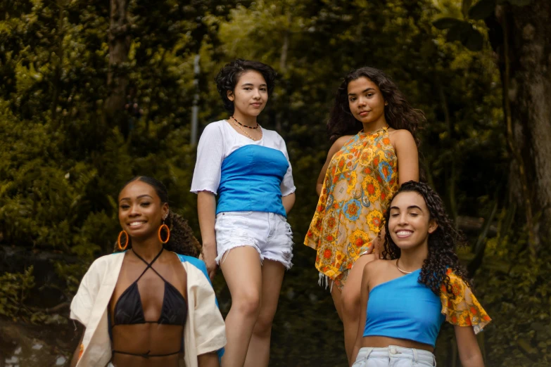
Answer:
[[[342,288],[348,270],[373,252],[388,200],[398,191],[398,158],[388,127],[360,131],[331,158],[304,244],[316,269]]]

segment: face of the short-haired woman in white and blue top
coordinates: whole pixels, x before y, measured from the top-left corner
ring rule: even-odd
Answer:
[[[233,91],[227,91],[229,101],[234,103],[234,115],[258,116],[268,101],[268,87],[260,72],[243,72]]]

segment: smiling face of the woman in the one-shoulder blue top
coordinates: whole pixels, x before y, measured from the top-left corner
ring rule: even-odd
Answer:
[[[428,245],[429,233],[438,228],[431,219],[422,195],[413,191],[399,193],[393,198],[388,219],[388,231],[401,250]]]

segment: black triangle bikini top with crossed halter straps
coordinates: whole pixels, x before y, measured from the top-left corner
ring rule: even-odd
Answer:
[[[113,326],[117,325],[134,325],[137,323],[159,323],[166,325],[182,325],[186,323],[187,316],[187,302],[182,296],[182,293],[175,288],[174,285],[166,281],[163,276],[160,275],[151,265],[159,258],[164,249],[161,249],[158,255],[153,259],[151,263],[146,262],[140,255],[134,250],[134,254],[144,263],[147,264],[146,269],[141,275],[130,285],[122,295],[120,295],[117,303],[115,304],[115,311],[113,312]],[[141,276],[146,273],[148,269],[155,271],[155,273],[163,279],[165,282],[165,294],[163,295],[163,308],[160,311],[160,316],[157,321],[146,321],[144,317],[144,308],[141,304],[141,297],[138,289],[138,281]]]

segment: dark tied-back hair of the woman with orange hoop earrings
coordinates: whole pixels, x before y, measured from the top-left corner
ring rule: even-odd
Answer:
[[[122,191],[128,184],[134,181],[142,181],[153,187],[160,198],[161,204],[168,202],[168,191],[165,185],[148,176],[136,176],[130,181],[128,181],[125,186],[122,186],[120,191]],[[191,230],[189,224],[187,224],[186,219],[180,217],[175,212],[170,210],[168,216],[165,219],[165,224],[170,229],[170,238],[167,243],[163,246],[165,250],[176,252],[180,255],[187,255],[192,257],[199,257],[201,255],[201,244],[195,238],[194,232]],[[160,225],[160,224],[159,224]],[[128,239],[128,246],[126,250],[132,248],[132,240]],[[115,252],[119,252],[117,243],[115,243]]]

